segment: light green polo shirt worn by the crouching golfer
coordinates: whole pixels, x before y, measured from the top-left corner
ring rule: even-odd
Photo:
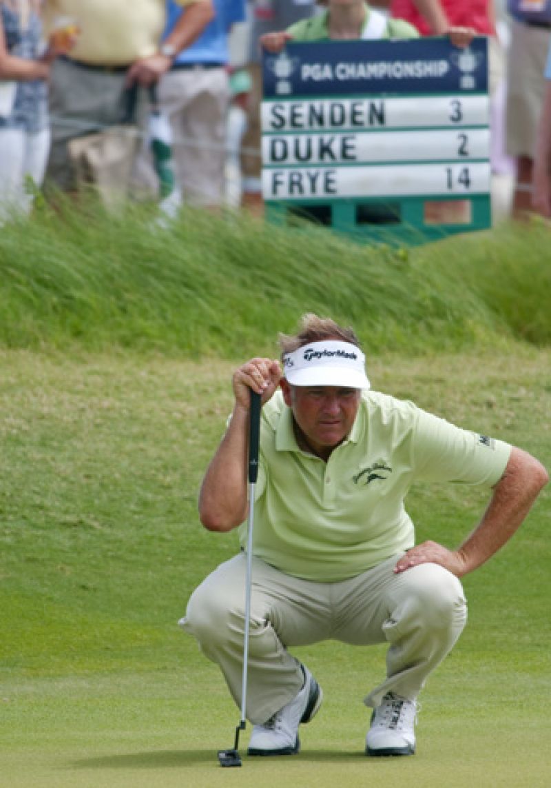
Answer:
[[[253,552],[295,577],[355,577],[414,545],[404,499],[416,481],[490,488],[511,447],[453,426],[411,402],[362,394],[349,437],[327,463],[298,448],[276,392],[264,406]],[[246,545],[246,523],[239,537]]]

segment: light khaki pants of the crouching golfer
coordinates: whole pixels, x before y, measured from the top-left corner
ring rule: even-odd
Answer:
[[[394,574],[399,556],[356,578],[321,583],[253,559],[246,716],[264,723],[302,686],[293,646],[338,640],[388,643],[386,679],[364,699],[378,706],[390,690],[413,700],[453,648],[467,620],[459,580],[434,563]],[[223,563],[199,585],[180,624],[220,666],[241,703],[246,557]]]

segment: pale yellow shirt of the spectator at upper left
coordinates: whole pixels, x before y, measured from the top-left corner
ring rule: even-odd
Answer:
[[[176,0],[190,6],[202,0]],[[165,0],[46,0],[46,35],[58,17],[72,17],[80,37],[70,57],[88,65],[130,65],[158,49],[165,29]]]

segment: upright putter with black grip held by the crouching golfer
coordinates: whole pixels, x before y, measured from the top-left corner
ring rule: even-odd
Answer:
[[[218,760],[220,766],[241,766],[239,755],[239,733],[246,728],[247,708],[247,673],[249,666],[249,626],[250,626],[250,595],[253,574],[253,527],[254,527],[254,485],[258,476],[258,445],[261,429],[261,395],[250,391],[249,419],[249,517],[247,519],[247,563],[245,577],[245,632],[243,634],[243,676],[241,692],[241,719],[235,728],[233,749],[220,749]]]

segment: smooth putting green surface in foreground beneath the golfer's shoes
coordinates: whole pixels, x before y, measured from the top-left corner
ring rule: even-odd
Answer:
[[[0,786],[549,786],[549,728],[534,713],[545,678],[530,693],[520,675],[515,698],[514,688],[500,692],[487,666],[463,687],[468,675],[454,675],[450,658],[423,693],[416,755],[372,759],[363,755],[369,714],[358,691],[358,649],[346,671],[350,649],[320,648],[309,664],[326,701],[301,727],[301,753],[247,758],[249,727],[240,769],[222,769],[216,757],[232,745],[239,711],[214,667],[3,682]],[[331,670],[332,649],[340,678]],[[367,660],[368,673],[382,656]]]

